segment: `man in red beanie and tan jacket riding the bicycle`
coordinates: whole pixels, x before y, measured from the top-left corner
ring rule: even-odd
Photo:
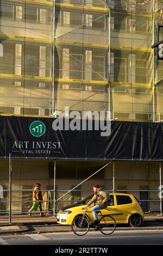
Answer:
[[[92,222],[92,224],[98,227],[99,223],[98,223],[97,211],[100,209],[105,209],[108,206],[108,196],[102,190],[102,188],[99,187],[97,183],[93,185],[93,191],[94,191],[94,196],[83,209],[86,210],[87,207],[90,206],[92,203],[96,203],[96,205],[93,206],[92,208],[93,218],[95,219],[95,221]]]

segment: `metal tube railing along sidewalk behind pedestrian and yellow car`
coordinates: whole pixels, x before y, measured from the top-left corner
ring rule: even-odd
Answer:
[[[27,214],[28,210],[32,207],[35,200],[32,200],[32,193],[34,190],[11,190],[11,197],[9,197],[9,189],[4,189],[4,198],[0,199],[0,214]],[[42,203],[42,212],[47,214],[55,214],[60,208],[68,206],[72,203],[78,203],[84,197],[82,194],[89,196],[93,194],[92,190],[73,190],[68,196],[67,192],[70,190],[40,190],[42,192],[43,200],[39,201]],[[108,190],[110,193],[113,190]],[[151,202],[160,202],[160,198],[150,199],[152,193],[159,193],[160,190],[115,190],[115,193],[133,193],[141,202],[143,211],[151,212]],[[66,196],[64,194],[66,193]],[[15,194],[15,195],[14,195]],[[64,200],[58,200],[59,196],[63,196]],[[87,194],[87,195],[86,195]],[[139,194],[139,196],[138,196]],[[10,199],[11,198],[11,202]],[[18,199],[17,199],[18,198]],[[55,204],[55,205],[54,205]],[[10,209],[11,207],[11,209]],[[37,213],[38,211],[36,211]]]

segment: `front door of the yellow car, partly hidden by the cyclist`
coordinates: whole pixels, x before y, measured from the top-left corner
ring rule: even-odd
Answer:
[[[112,217],[115,218],[115,221],[116,221],[116,216],[117,216],[117,205],[115,204],[116,202],[116,198],[115,198],[115,195],[114,194],[110,194],[110,203],[109,205],[107,206],[106,209],[103,209],[102,210],[102,215],[111,215]],[[93,218],[93,214],[92,214],[92,211],[91,211],[91,208],[93,207],[94,205],[91,205],[89,208],[88,208],[88,214],[89,214],[89,217],[91,218],[91,220],[94,220]]]

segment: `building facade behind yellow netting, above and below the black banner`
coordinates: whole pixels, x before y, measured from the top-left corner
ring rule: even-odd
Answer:
[[[109,111],[110,119],[120,121],[157,121],[159,113],[163,118],[163,62],[151,48],[162,24],[161,1],[1,0],[0,5],[1,115],[51,118],[69,107]],[[57,197],[104,163],[57,161]],[[13,189],[32,189],[35,182],[53,189],[52,160],[12,164]],[[8,189],[8,160],[0,167]],[[115,190],[134,193],[145,211],[159,211],[159,168],[157,162],[118,161],[63,200],[84,198],[95,180],[112,190],[115,169]],[[31,198],[27,191],[13,193],[19,201]],[[28,203],[12,207],[26,210]],[[0,210],[7,209],[1,203]]]

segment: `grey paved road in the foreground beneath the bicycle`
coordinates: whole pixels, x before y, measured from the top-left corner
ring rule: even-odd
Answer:
[[[118,231],[105,236],[90,231],[79,237],[72,232],[0,236],[0,245],[163,245],[163,230]]]

